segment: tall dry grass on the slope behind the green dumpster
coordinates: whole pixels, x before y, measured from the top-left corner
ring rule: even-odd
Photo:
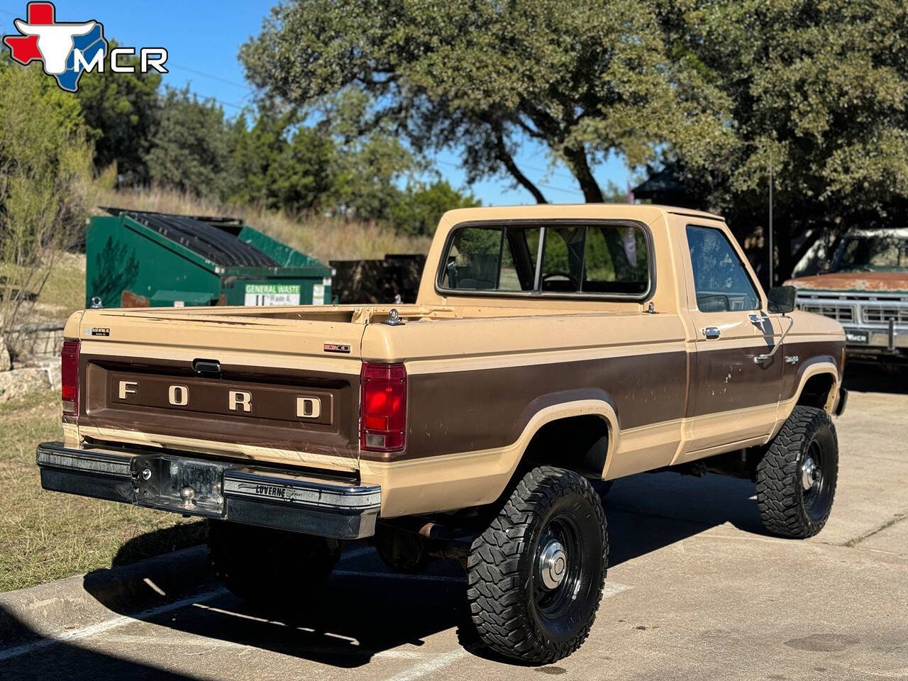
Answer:
[[[104,190],[104,206],[135,211],[237,217],[257,230],[327,264],[331,260],[383,258],[386,253],[425,253],[431,240],[409,237],[374,222],[350,222],[322,215],[289,215],[254,206],[230,206],[164,189]]]

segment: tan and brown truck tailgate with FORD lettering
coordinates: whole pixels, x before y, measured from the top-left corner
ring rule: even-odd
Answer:
[[[78,436],[357,469],[364,326],[290,310],[86,311]]]

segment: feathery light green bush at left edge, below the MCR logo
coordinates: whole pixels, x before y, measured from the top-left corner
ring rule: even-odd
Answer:
[[[0,59],[0,335],[82,236],[92,149],[78,101],[39,64]]]

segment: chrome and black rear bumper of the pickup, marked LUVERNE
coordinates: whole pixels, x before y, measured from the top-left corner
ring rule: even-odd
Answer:
[[[170,451],[38,445],[41,486],[84,497],[339,539],[375,534],[381,488]]]

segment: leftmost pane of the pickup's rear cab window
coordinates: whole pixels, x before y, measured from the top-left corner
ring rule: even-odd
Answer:
[[[445,258],[441,285],[468,291],[498,288],[503,232],[485,227],[458,230]]]

